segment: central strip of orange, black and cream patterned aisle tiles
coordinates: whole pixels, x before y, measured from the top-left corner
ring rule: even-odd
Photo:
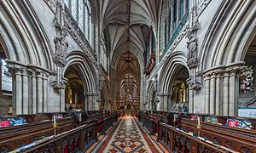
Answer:
[[[133,117],[125,116],[104,152],[152,152]]]

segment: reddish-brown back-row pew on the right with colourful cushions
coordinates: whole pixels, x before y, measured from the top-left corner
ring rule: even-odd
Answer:
[[[188,115],[195,116],[195,115]],[[256,131],[253,118],[229,117],[229,116],[199,116],[201,123],[198,127],[197,120],[181,118],[180,128],[192,133],[200,133],[202,138],[208,139],[214,144],[223,145],[239,152],[256,152]],[[212,117],[214,122],[207,122],[207,117]],[[244,124],[250,121],[251,126],[230,127],[230,121],[243,121]],[[240,123],[242,124],[242,123]],[[249,123],[248,123],[249,124]]]

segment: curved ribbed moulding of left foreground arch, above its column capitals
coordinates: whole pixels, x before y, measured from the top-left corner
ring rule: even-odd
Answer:
[[[23,65],[40,65],[46,69],[53,69],[53,51],[30,3],[3,1],[0,8],[0,42],[7,59]],[[26,15],[19,15],[23,14],[25,9]]]

